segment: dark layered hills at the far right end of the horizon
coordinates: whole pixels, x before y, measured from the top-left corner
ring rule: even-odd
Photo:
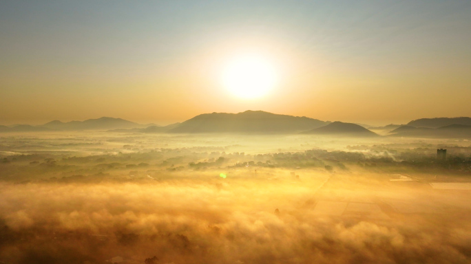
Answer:
[[[399,127],[399,129],[401,129]],[[437,129],[426,127],[406,126],[404,129],[391,131],[393,137],[437,137],[437,138],[471,138],[471,126],[465,124],[450,124]],[[394,132],[394,133],[393,133]]]

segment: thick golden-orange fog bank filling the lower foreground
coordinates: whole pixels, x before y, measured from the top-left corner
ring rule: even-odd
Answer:
[[[313,192],[326,177],[0,184],[0,261],[469,263],[469,214],[317,214],[324,192],[343,188]]]

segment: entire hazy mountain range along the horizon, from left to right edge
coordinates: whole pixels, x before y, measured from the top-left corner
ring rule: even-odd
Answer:
[[[265,111],[241,113],[204,113],[182,123],[158,126],[138,124],[121,118],[97,118],[85,121],[54,120],[39,126],[0,125],[1,132],[87,131],[101,130],[117,133],[303,133],[353,137],[377,137],[374,131],[386,131],[392,137],[450,137],[471,138],[471,118],[423,118],[406,125],[365,125],[329,122],[305,116],[280,115]],[[381,133],[384,134],[384,133]]]

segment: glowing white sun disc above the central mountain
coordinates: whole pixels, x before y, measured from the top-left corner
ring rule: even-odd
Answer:
[[[231,94],[243,99],[265,96],[277,81],[273,65],[261,56],[238,56],[222,71],[222,84]]]

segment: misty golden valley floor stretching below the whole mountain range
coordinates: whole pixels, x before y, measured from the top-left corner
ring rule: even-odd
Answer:
[[[470,145],[3,135],[0,263],[469,263]]]

